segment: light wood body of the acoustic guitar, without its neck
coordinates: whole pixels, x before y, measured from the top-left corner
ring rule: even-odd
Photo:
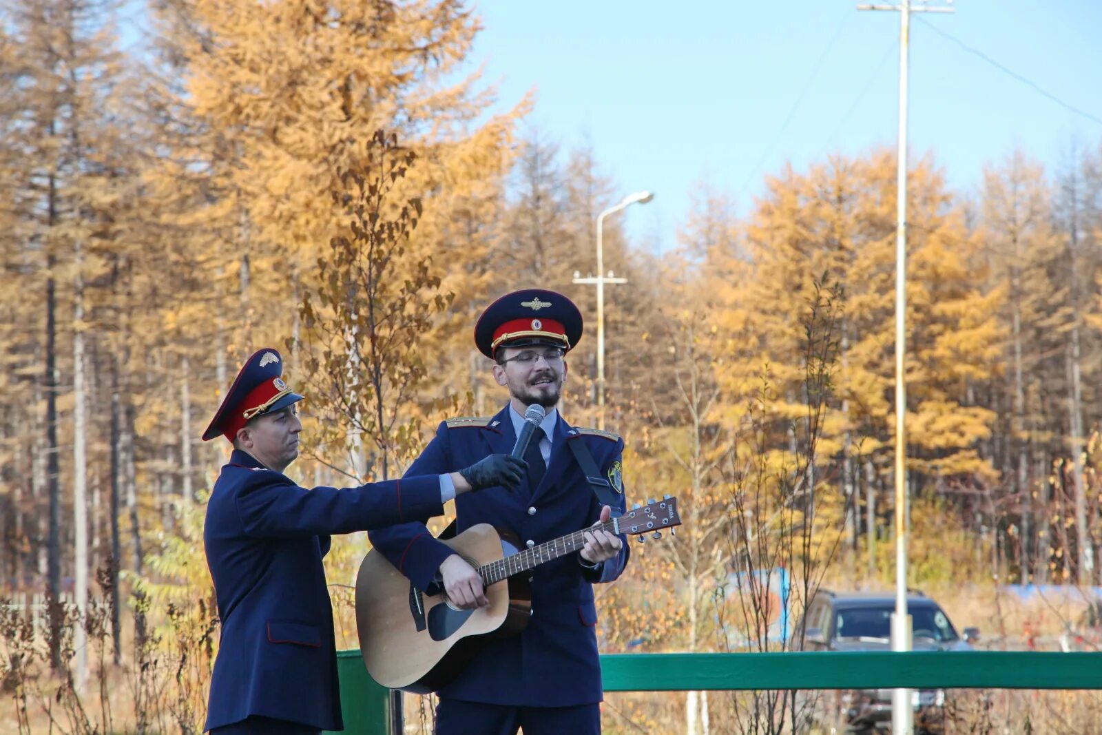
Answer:
[[[501,536],[488,523],[441,541],[475,569],[505,555]],[[413,588],[382,554],[371,550],[356,575],[356,627],[368,673],[383,687],[418,694],[449,683],[484,640],[516,635],[528,624],[527,576],[487,586],[486,597],[486,607],[456,609],[443,590],[428,594]]]

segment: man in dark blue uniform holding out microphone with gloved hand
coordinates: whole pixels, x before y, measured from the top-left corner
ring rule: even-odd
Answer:
[[[331,533],[424,521],[484,487],[516,487],[521,460],[495,454],[460,472],[337,489],[295,485],[294,404],[279,352],[246,361],[203,434],[234,445],[214,485],[203,540],[222,640],[204,729],[304,735],[343,729],[333,612],[322,558]]]

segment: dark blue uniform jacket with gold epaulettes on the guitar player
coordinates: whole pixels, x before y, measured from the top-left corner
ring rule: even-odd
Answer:
[[[507,404],[491,419],[445,421],[408,475],[455,472],[489,454],[508,454],[517,441],[509,410]],[[570,442],[585,442],[599,471],[614,477],[623,512],[623,440],[606,432],[573,429],[559,415],[547,474],[539,487],[531,488],[526,480],[511,493],[497,487],[458,496],[456,532],[489,523],[531,545],[591,526],[601,505]],[[422,590],[452,553],[423,523],[403,523],[369,536],[375,548]],[[599,702],[593,583],[612,582],[624,571],[628,559],[624,541],[619,554],[597,569],[585,569],[577,554],[569,554],[532,570],[528,626],[518,636],[488,641],[460,677],[440,690],[440,696],[517,706]]]

